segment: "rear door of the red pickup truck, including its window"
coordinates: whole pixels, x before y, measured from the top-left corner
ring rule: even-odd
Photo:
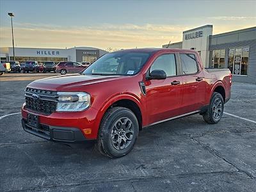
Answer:
[[[182,67],[183,98],[182,110],[184,113],[199,110],[205,102],[204,72],[200,65],[199,58],[191,52],[180,53]]]

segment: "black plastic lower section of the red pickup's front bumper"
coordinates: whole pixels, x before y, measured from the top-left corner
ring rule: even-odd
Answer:
[[[46,140],[68,143],[86,141],[81,130],[75,127],[57,127],[44,124],[39,124],[38,127],[32,127],[27,124],[27,120],[24,118],[22,118],[21,124],[24,131]]]

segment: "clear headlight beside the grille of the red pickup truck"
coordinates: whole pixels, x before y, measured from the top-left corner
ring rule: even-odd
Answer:
[[[91,96],[85,92],[57,92],[56,111],[84,111],[90,106]]]

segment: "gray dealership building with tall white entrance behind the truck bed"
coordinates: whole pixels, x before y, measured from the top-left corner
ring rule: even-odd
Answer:
[[[234,81],[256,84],[256,27],[212,35],[212,25],[201,26],[163,47],[195,49],[204,67],[229,68]]]

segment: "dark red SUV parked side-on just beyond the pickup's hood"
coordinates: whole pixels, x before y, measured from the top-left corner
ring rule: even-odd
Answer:
[[[65,75],[67,73],[81,72],[82,70],[84,70],[84,68],[86,67],[76,62],[60,62],[56,67],[56,72],[60,73],[61,75]]]

